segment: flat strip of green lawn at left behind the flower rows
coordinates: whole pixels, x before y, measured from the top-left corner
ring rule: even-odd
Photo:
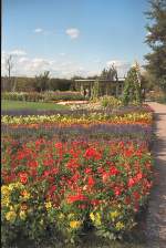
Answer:
[[[53,111],[53,110],[69,110],[69,106],[55,103],[41,102],[22,102],[22,101],[1,101],[1,110],[35,110],[35,111]]]

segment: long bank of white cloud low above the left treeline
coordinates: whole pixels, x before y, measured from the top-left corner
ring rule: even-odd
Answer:
[[[2,75],[7,74],[6,59],[9,54],[10,52],[2,51]],[[63,61],[61,60],[62,59],[55,61],[45,58],[30,58],[28,55],[14,56],[11,75],[35,76],[43,73],[44,71],[50,71],[51,76],[70,79],[73,75],[90,76],[98,74],[97,71],[87,70],[81,63],[66,59]]]

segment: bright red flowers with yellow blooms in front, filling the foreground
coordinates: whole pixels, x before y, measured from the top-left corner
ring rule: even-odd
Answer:
[[[21,231],[37,241],[50,230],[73,241],[90,227],[122,238],[151,187],[145,143],[3,141],[3,239]]]

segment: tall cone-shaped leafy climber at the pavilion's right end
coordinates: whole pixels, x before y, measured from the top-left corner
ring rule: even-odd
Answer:
[[[128,105],[129,103],[132,104],[142,103],[139,70],[137,65],[131,68],[131,70],[127,73],[127,78],[124,84],[122,102],[124,105]]]

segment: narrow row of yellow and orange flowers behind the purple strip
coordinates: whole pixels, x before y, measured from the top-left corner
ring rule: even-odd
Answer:
[[[127,113],[123,115],[107,115],[102,113],[92,113],[90,115],[70,116],[70,115],[28,115],[28,116],[10,116],[3,115],[2,123],[11,125],[27,125],[38,126],[39,124],[59,124],[59,125],[73,125],[73,124],[152,124],[152,113]]]

